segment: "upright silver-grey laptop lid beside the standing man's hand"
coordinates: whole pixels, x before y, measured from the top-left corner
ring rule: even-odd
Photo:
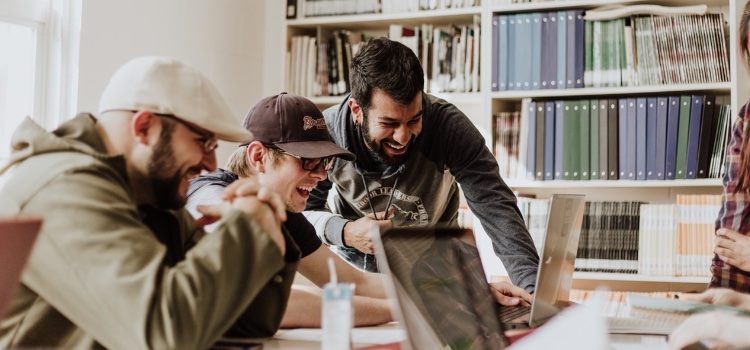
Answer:
[[[539,257],[529,326],[537,327],[570,304],[573,269],[586,200],[582,194],[553,194]]]

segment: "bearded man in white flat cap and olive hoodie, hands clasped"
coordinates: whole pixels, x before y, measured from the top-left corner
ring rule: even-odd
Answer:
[[[226,102],[174,59],[122,66],[99,115],[47,132],[30,119],[0,168],[0,216],[43,228],[0,348],[205,349],[223,335],[267,336],[281,321],[299,250],[276,192],[227,188],[211,235],[183,208],[188,180],[216,168],[217,139],[243,142]]]

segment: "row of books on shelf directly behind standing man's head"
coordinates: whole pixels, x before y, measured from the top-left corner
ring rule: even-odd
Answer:
[[[431,24],[389,27],[389,36],[419,57],[425,74],[425,91],[478,92],[479,16],[472,25],[438,28]],[[303,96],[339,96],[350,91],[349,65],[372,34],[337,30],[318,41],[293,36],[287,53],[289,92]]]

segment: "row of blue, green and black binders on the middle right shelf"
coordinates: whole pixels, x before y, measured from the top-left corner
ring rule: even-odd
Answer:
[[[525,101],[521,112],[495,116],[495,156],[507,179],[721,178],[732,126],[726,100]]]

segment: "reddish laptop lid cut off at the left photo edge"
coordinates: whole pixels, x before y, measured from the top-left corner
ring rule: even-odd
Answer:
[[[0,219],[0,320],[41,227],[42,220],[36,218]]]

